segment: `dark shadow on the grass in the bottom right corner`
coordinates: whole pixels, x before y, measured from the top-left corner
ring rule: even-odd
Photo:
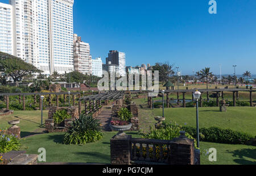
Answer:
[[[237,164],[256,165],[256,149],[238,149],[229,153],[232,153],[233,157],[239,157],[239,159],[234,159],[234,162],[236,162]],[[246,160],[245,157],[251,158],[254,161]]]

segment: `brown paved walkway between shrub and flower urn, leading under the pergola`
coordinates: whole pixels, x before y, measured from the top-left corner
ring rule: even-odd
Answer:
[[[100,120],[102,131],[112,131],[109,126],[111,121],[111,116],[112,116],[112,109],[104,107],[101,113],[96,117],[98,120]]]

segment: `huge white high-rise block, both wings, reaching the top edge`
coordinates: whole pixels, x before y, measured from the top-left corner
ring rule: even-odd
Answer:
[[[50,75],[72,72],[73,0],[10,0],[14,56]]]

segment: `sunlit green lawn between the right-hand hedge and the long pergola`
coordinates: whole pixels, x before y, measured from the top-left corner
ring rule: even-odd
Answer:
[[[156,116],[162,116],[162,108],[152,110]],[[199,125],[201,127],[230,128],[235,131],[256,135],[255,107],[228,107],[220,112],[218,107],[200,107]],[[166,108],[166,122],[176,121],[180,125],[196,127],[196,108]]]

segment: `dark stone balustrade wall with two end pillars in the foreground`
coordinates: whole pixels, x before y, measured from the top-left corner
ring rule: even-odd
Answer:
[[[168,165],[195,165],[200,164],[200,151],[194,149],[194,141],[188,139],[185,136],[185,132],[180,132],[180,137],[172,140],[153,140],[153,139],[132,139],[131,135],[126,135],[126,133],[118,133],[112,139],[110,139],[110,155],[111,164],[113,165],[130,165],[130,164],[150,164],[149,158],[142,158],[133,156],[132,144],[139,143],[140,145],[148,145],[149,143],[153,145],[166,144],[170,146],[170,152],[168,153],[168,160],[163,160],[160,158],[155,162],[159,164]],[[134,142],[137,141],[137,142]],[[134,145],[133,145],[134,146]],[[142,150],[142,148],[140,148]],[[146,149],[147,150],[147,149]],[[147,152],[147,151],[146,151]],[[136,152],[135,152],[136,153]],[[198,157],[199,154],[199,157]]]

